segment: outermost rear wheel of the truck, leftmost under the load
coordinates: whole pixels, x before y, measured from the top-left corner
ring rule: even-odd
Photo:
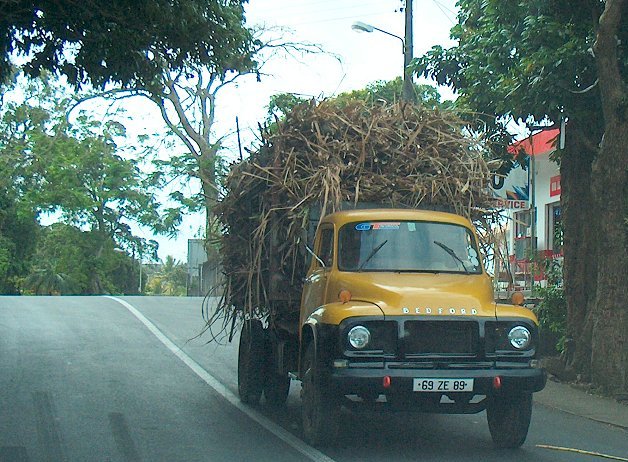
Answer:
[[[258,319],[247,319],[242,326],[238,350],[238,394],[243,403],[259,403],[264,386],[265,353],[262,323]]]

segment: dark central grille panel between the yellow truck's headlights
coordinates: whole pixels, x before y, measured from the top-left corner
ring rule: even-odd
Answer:
[[[405,356],[475,356],[479,329],[475,321],[406,321]]]

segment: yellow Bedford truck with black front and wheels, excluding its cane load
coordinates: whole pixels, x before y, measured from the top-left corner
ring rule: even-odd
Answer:
[[[247,319],[241,400],[281,405],[301,381],[306,441],[330,444],[338,413],[486,410],[498,447],[528,433],[538,321],[496,303],[469,220],[434,211],[348,210],[320,220],[300,307]],[[375,411],[377,412],[377,411]]]

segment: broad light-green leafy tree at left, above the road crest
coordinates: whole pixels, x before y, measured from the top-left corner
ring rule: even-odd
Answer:
[[[157,187],[139,162],[118,153],[117,142],[124,138],[120,123],[98,122],[85,114],[69,123],[62,110],[67,96],[49,82],[31,82],[26,93],[24,102],[7,105],[0,126],[3,171],[19,185],[16,204],[21,210],[37,217],[58,215],[59,221],[71,226],[64,233],[44,235],[54,245],[38,247],[38,251],[48,249],[50,255],[40,253],[35,270],[71,275],[77,287],[72,290],[80,293],[124,288],[109,277],[110,267],[119,263],[112,257],[115,248],[140,257],[156,252],[156,244],[135,236],[131,224],[172,234],[180,211],[163,210],[155,198]],[[71,249],[64,251],[63,258],[57,255],[61,242],[75,246],[76,255]],[[89,280],[82,281],[72,265]]]

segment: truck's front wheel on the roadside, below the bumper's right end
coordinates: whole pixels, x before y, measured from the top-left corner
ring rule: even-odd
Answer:
[[[498,448],[518,448],[528,436],[532,418],[532,395],[521,393],[489,398],[488,428]]]

